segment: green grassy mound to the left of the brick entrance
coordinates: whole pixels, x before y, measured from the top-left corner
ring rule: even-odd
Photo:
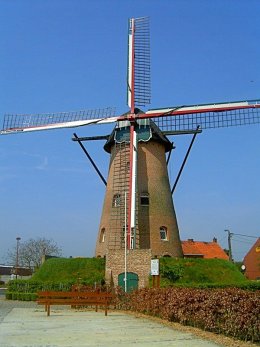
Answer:
[[[52,258],[43,263],[32,281],[73,282],[91,285],[105,277],[105,260],[102,258]]]

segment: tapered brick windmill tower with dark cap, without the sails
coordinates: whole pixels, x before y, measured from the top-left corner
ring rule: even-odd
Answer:
[[[165,155],[172,143],[151,120],[137,120],[135,125],[134,216],[129,230],[129,123],[119,122],[104,147],[110,153],[110,165],[96,256],[106,257],[106,276],[115,284],[123,284],[127,269],[129,285],[140,281],[145,286],[151,258],[182,257],[183,253]]]

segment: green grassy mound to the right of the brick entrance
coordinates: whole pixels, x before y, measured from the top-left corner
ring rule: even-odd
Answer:
[[[162,284],[240,284],[246,282],[235,264],[222,259],[161,258]]]

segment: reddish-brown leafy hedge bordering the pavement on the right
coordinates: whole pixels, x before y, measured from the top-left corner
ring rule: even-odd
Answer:
[[[140,312],[245,341],[260,341],[259,291],[141,289],[118,293],[118,309]]]

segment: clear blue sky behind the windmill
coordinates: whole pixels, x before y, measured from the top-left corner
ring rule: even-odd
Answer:
[[[0,118],[126,107],[128,18],[151,19],[151,108],[260,99],[259,0],[0,0]],[[75,129],[102,135],[104,126]],[[0,262],[22,240],[93,256],[104,186],[74,129],[0,137]],[[207,130],[174,195],[182,239],[259,235],[260,126]],[[190,136],[172,139],[173,182]],[[86,144],[104,175],[102,142]],[[242,259],[254,239],[234,237]]]

